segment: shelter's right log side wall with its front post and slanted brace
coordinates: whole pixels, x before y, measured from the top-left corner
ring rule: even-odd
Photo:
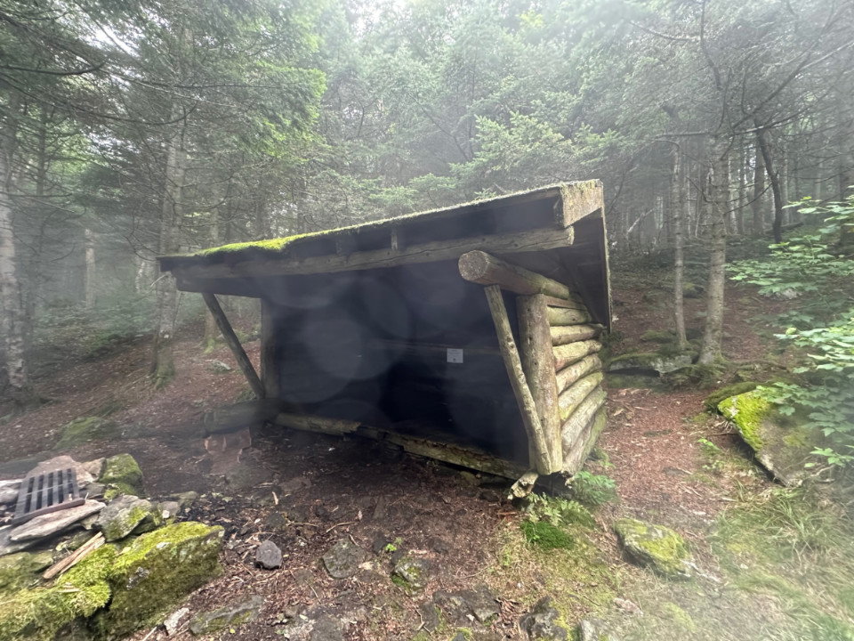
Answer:
[[[463,279],[486,286],[507,373],[528,432],[538,474],[575,474],[605,425],[604,329],[581,296],[543,274],[482,251],[460,256]],[[515,344],[501,289],[517,294],[520,344]]]

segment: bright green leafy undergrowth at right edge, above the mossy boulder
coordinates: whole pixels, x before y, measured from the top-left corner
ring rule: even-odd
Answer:
[[[780,319],[788,329],[775,336],[800,348],[794,373],[802,379],[758,389],[783,415],[804,410],[804,426],[827,439],[813,454],[845,466],[854,462],[854,196],[824,206],[807,202],[800,212],[826,217],[815,231],[772,245],[768,258],[731,265],[731,278],[758,285],[762,294],[799,297]]]

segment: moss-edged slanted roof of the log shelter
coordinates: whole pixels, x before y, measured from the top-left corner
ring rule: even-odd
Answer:
[[[561,183],[454,207],[159,258],[187,291],[265,296],[270,279],[456,260],[483,249],[576,289],[609,324],[599,181]]]

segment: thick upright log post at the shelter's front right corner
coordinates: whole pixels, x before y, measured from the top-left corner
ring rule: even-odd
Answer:
[[[534,398],[552,468],[560,469],[563,464],[563,450],[560,449],[562,421],[558,412],[558,381],[554,372],[552,337],[545,318],[544,296],[519,296],[516,299],[516,315],[519,318],[522,369]]]

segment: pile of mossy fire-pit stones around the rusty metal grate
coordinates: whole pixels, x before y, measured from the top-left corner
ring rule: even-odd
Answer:
[[[222,572],[222,528],[175,523],[193,492],[144,498],[141,469],[127,454],[39,466],[57,467],[76,470],[86,500],[0,528],[0,641],[125,637]],[[0,485],[4,515],[18,486]]]

